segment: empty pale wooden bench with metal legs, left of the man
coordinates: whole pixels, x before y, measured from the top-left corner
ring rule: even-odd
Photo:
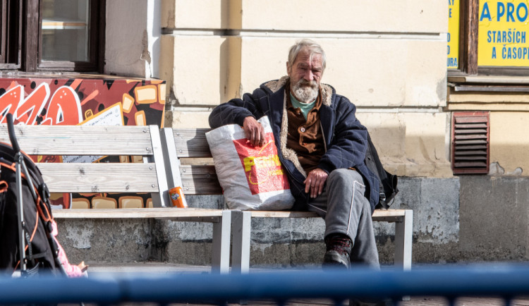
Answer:
[[[147,192],[151,194],[154,206],[141,209],[54,209],[55,219],[154,218],[211,222],[214,224],[212,270],[228,271],[231,212],[172,207],[157,126],[15,126],[15,129],[20,149],[26,154],[142,157],[142,163],[37,163],[50,192]],[[10,143],[5,125],[0,126],[0,141]]]

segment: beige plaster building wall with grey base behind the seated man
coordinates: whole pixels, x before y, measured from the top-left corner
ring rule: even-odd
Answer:
[[[446,1],[140,2],[107,1],[105,71],[165,80],[166,126],[207,128],[214,106],[285,75],[288,47],[296,39],[315,39],[327,51],[322,82],[356,104],[384,165],[401,178],[394,207],[413,209],[413,261],[527,258],[527,178],[516,176],[529,173],[523,171],[528,95],[456,92],[450,78],[447,84]],[[150,74],[156,67],[158,73]],[[512,84],[528,83],[521,79]],[[453,176],[451,113],[481,110],[491,111],[491,173]],[[280,227],[290,233],[296,226]],[[273,235],[253,240],[253,263],[269,264],[286,248],[291,251],[284,262],[319,261],[320,250],[307,250],[321,249],[322,228],[310,228],[313,239],[303,236],[300,244],[293,238],[274,249]],[[189,255],[192,242],[196,252],[209,243],[196,228],[173,229],[175,237],[160,238],[174,243],[163,251],[175,256],[168,260],[180,261],[182,248]],[[377,224],[376,231],[381,259],[390,262],[393,227]],[[167,259],[157,252],[148,256]]]

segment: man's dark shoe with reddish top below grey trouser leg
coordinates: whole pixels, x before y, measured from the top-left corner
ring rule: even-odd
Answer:
[[[325,237],[327,252],[323,257],[322,267],[327,268],[345,268],[351,266],[351,248],[353,242],[351,238],[343,234],[331,234]]]

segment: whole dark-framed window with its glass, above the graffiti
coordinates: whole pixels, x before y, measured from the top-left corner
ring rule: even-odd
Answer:
[[[0,68],[102,72],[104,0],[0,0]]]

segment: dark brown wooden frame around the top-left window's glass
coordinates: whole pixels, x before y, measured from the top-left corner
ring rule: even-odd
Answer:
[[[12,3],[15,4],[13,7]],[[8,18],[2,18],[1,24],[0,47],[4,48],[0,52],[3,52],[1,55],[4,57],[0,57],[0,69],[30,73],[103,72],[106,0],[90,1],[90,59],[86,62],[42,61],[42,0],[0,0],[0,6],[3,12],[9,14]],[[12,11],[4,10],[5,7]],[[8,26],[6,20],[9,21]]]

